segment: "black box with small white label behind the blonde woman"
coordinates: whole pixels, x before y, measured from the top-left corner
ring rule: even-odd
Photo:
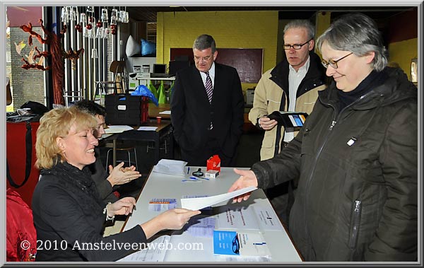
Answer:
[[[106,124],[139,126],[148,120],[148,98],[124,94],[105,96]]]

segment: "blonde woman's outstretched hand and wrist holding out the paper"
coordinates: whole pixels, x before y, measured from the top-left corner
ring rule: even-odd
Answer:
[[[159,231],[170,229],[170,230],[179,230],[186,223],[189,222],[189,219],[192,216],[201,214],[199,210],[189,210],[189,209],[170,209],[155,218],[147,221],[146,223],[141,224],[146,238],[151,238],[152,235],[158,233]]]

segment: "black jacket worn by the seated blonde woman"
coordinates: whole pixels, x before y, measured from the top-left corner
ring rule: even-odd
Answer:
[[[139,225],[102,236],[106,204],[88,168],[81,171],[59,163],[50,170],[41,170],[41,175],[33,195],[34,224],[40,240],[37,261],[114,261],[130,253],[124,247],[119,250],[119,245],[146,243]]]

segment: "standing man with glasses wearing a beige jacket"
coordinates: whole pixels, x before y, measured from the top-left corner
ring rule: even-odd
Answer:
[[[325,88],[325,70],[314,49],[314,25],[307,20],[290,21],[284,28],[285,59],[266,71],[254,91],[249,120],[265,130],[261,161],[280,153],[299,129],[284,128],[270,120],[273,111],[312,112],[318,91]],[[266,190],[281,219],[288,223],[295,182]],[[289,194],[290,193],[290,198]]]

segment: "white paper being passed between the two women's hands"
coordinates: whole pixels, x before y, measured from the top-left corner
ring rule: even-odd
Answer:
[[[181,207],[183,209],[191,209],[191,210],[204,209],[205,207],[227,201],[228,199],[237,197],[240,194],[252,192],[257,189],[258,189],[257,187],[251,186],[251,187],[246,187],[234,192],[228,192],[226,194],[213,195],[212,197],[182,198]]]

